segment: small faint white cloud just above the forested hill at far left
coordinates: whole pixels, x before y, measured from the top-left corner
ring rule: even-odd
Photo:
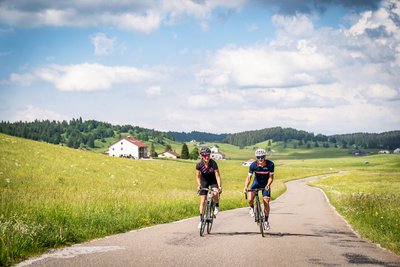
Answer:
[[[19,111],[12,118],[12,121],[34,121],[34,120],[68,120],[70,117],[58,114],[51,110],[44,110],[33,105],[28,105],[22,111]]]

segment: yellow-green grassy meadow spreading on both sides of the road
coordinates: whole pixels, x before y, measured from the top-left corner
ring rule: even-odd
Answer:
[[[248,167],[242,161],[253,157],[252,148],[220,147],[228,157],[237,158],[218,161],[223,179],[221,208],[245,207],[242,190]],[[400,156],[326,158],[324,154],[316,159],[307,154],[292,159],[291,153],[271,156],[276,165],[273,198],[284,193],[289,180],[335,174],[314,185],[327,192],[357,231],[400,252]],[[196,161],[113,158],[4,134],[0,134],[0,157],[0,265],[199,213]],[[364,205],[366,216],[358,214],[359,205]],[[376,235],[383,240],[376,241]]]

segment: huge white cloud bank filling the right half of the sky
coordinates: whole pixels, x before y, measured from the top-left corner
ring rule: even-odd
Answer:
[[[341,128],[368,131],[371,121],[369,131],[390,129],[400,123],[399,6],[383,2],[347,29],[316,28],[303,14],[275,15],[274,40],[226,46],[209,55],[196,77],[203,88],[215,88],[208,96],[241,128],[259,128],[246,118],[264,113],[272,125],[332,134],[340,133],[339,118]],[[228,90],[245,99],[240,109],[230,108],[240,104],[221,93]],[[194,100],[201,97],[191,99],[198,108]]]

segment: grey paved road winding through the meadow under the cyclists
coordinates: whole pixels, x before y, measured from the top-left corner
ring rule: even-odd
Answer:
[[[200,237],[198,218],[75,245],[19,266],[400,266],[400,257],[358,237],[337,215],[316,177],[287,183],[272,202],[264,238],[248,209],[218,215]],[[222,200],[223,205],[223,200]]]

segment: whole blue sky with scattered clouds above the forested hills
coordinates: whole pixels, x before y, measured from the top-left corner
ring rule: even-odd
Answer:
[[[0,120],[400,129],[400,3],[0,2]]]

